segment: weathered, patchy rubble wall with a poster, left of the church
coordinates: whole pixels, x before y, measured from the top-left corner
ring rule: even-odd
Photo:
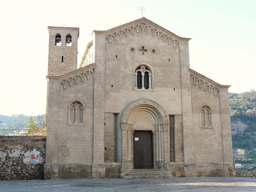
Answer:
[[[46,136],[0,136],[0,180],[42,179]],[[30,153],[39,151],[39,163]]]

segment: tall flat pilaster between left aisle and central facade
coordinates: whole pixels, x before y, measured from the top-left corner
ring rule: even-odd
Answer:
[[[102,177],[104,163],[104,98],[105,98],[105,39],[103,34],[95,37],[94,120],[93,120],[93,178]],[[97,168],[98,167],[98,168]]]

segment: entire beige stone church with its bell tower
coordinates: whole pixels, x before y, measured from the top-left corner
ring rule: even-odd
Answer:
[[[45,179],[234,176],[227,85],[189,68],[189,40],[140,18],[48,27]]]

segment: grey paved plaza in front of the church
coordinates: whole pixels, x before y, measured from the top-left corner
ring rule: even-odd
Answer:
[[[0,181],[0,192],[30,191],[256,191],[256,178],[252,177],[189,177],[172,179],[74,179]]]

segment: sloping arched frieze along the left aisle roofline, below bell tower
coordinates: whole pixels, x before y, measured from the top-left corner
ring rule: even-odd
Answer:
[[[75,76],[71,76],[68,79],[64,79],[60,82],[60,86],[63,87],[63,89],[65,90],[67,88],[67,86],[71,87],[75,82],[75,84],[78,84],[79,82],[84,82],[84,80],[89,80],[90,78],[94,78],[94,71],[89,70],[86,72],[82,72],[81,74],[75,75]]]

